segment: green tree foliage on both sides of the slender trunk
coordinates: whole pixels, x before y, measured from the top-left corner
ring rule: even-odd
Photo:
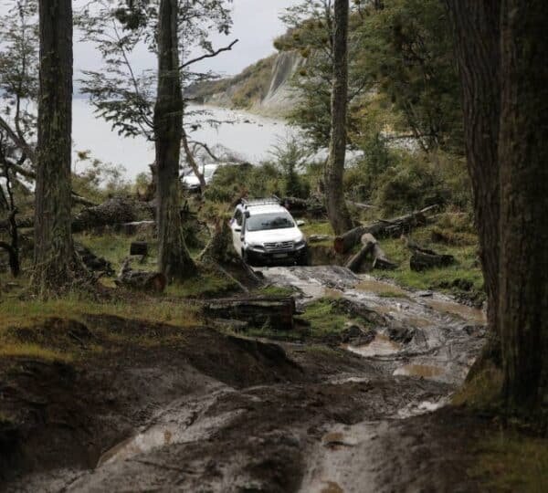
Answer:
[[[424,151],[463,154],[462,114],[450,29],[437,0],[386,0],[381,9],[353,6],[349,32],[350,142],[374,131],[411,132]],[[295,75],[301,98],[290,115],[314,148],[330,136],[332,5],[303,2],[282,20],[275,41],[306,64]]]

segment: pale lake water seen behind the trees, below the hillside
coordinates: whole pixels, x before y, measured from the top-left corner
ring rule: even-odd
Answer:
[[[250,163],[268,159],[272,146],[279,139],[295,133],[283,121],[259,117],[245,111],[209,107],[194,109],[208,110],[208,119],[222,123],[216,127],[203,125],[192,132],[189,136],[191,139],[205,142],[209,147],[220,144]],[[192,122],[193,119],[189,118],[189,121]],[[124,138],[116,131],[111,131],[108,122],[94,116],[87,100],[73,101],[72,139],[75,154],[77,151],[89,150],[100,161],[121,164],[128,179],[133,179],[138,173],[148,172],[149,164],[154,161],[153,142],[147,142],[141,137]],[[84,166],[81,163],[76,165],[77,171],[81,171],[80,167]]]

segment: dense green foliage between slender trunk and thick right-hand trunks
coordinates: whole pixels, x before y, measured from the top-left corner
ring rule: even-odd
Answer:
[[[425,151],[464,152],[458,74],[444,5],[387,0],[357,27],[361,67],[387,108],[395,131],[411,130]],[[371,100],[364,100],[365,108]]]

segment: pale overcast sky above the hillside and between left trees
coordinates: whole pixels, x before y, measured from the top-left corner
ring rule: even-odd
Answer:
[[[78,0],[78,2],[81,1]],[[237,45],[232,51],[222,53],[216,58],[208,58],[195,68],[204,71],[211,69],[220,75],[234,75],[258,59],[269,56],[275,51],[272,42],[285,32],[279,15],[288,6],[299,4],[301,1],[234,0],[232,33],[228,37],[215,34],[212,40],[214,47],[224,47],[237,38],[239,39]],[[98,69],[101,66],[101,60],[92,45],[78,40],[77,33],[75,33],[75,41],[74,68],[75,78],[78,79],[80,70]],[[132,64],[138,69],[155,68],[156,61],[151,54],[142,50],[132,58]]]

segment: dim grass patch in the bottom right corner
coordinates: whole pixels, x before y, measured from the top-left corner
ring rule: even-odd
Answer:
[[[489,491],[543,493],[548,485],[548,439],[501,431],[477,446],[469,475]]]

